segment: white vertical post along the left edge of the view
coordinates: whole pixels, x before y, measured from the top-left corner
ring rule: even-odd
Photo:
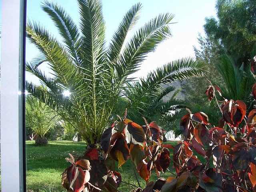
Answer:
[[[1,35],[1,187],[24,190],[23,44],[24,0],[2,0]]]

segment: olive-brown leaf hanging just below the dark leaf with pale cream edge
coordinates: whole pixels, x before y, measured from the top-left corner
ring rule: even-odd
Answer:
[[[130,146],[130,157],[132,162],[134,162],[136,168],[139,166],[139,164],[142,162],[142,160],[146,159],[146,147],[144,150],[140,149],[140,146],[131,144]]]

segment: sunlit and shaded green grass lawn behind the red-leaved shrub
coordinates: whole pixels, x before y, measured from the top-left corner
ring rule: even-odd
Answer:
[[[175,146],[178,142],[166,142]],[[68,153],[78,151],[83,154],[85,148],[84,142],[72,142],[72,141],[49,141],[48,146],[36,146],[34,141],[26,141],[26,157],[27,157],[27,191],[28,192],[62,192],[66,191],[61,185],[61,174],[70,166],[69,162],[66,162],[65,158],[68,157]],[[170,150],[170,158],[172,158],[172,150]],[[194,152],[201,162],[204,161],[202,156]],[[171,161],[170,168],[173,162]],[[118,170],[121,173],[122,181],[128,182],[138,186],[134,173],[132,171],[131,162],[128,160]],[[175,172],[174,170],[171,170]],[[138,174],[137,174],[138,176]],[[161,174],[160,177],[168,178],[172,176],[166,172]],[[142,187],[146,185],[146,182],[138,176]],[[153,170],[150,177],[150,181],[157,180],[158,176],[156,171]],[[128,184],[122,183],[118,190],[121,192],[128,192],[134,187]]]

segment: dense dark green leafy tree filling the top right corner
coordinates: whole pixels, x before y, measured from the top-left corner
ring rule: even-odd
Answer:
[[[241,66],[255,54],[256,2],[255,0],[217,0],[217,17],[206,18],[207,36],[224,48]]]

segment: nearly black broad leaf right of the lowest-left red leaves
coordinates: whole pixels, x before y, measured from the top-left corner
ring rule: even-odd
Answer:
[[[94,186],[103,186],[108,177],[106,166],[99,160],[92,160],[90,163],[90,183]]]

